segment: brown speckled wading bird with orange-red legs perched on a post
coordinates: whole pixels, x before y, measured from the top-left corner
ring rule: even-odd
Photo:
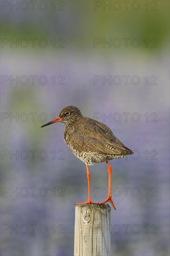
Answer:
[[[88,181],[88,200],[76,204],[92,204],[90,195],[90,172],[89,167],[93,163],[106,162],[108,171],[108,196],[103,202],[104,204],[111,202],[116,207],[111,198],[111,166],[108,161],[114,158],[127,157],[133,154],[132,150],[127,148],[112,133],[111,129],[104,123],[84,117],[81,111],[74,106],[68,106],[60,111],[60,114],[54,120],[44,124],[41,128],[56,122],[65,124],[63,138],[67,146],[86,165],[87,181]]]

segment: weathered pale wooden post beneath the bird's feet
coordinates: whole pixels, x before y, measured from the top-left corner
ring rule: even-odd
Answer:
[[[78,204],[75,207],[74,256],[109,256],[111,207]]]

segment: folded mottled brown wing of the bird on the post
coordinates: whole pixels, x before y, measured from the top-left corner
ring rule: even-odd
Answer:
[[[91,118],[81,118],[74,124],[70,134],[70,143],[74,148],[85,153],[128,155],[130,149],[113,135],[105,124]]]

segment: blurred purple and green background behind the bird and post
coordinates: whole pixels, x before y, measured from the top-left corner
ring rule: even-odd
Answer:
[[[135,152],[110,162],[111,255],[169,255],[169,1],[1,1],[2,256],[73,255],[85,164],[40,128],[68,105]]]

